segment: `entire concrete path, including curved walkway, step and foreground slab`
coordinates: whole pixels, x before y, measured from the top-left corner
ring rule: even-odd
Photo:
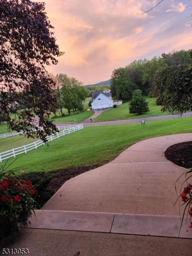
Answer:
[[[189,140],[192,133],[144,140],[111,163],[69,180],[45,204],[48,211],[37,222],[32,220],[32,228],[21,230],[15,244],[3,247],[27,248],[29,256],[191,256],[191,239],[160,237],[162,230],[167,236],[178,233],[178,218],[165,215],[178,215],[178,208],[173,208],[175,180],[186,170],[166,160],[164,151]],[[89,216],[52,210],[87,211]],[[93,231],[93,224],[95,230],[113,233],[62,230],[73,226]],[[181,237],[191,237],[188,226],[182,227]],[[137,235],[148,230],[148,236]],[[136,235],[125,235],[130,232]]]

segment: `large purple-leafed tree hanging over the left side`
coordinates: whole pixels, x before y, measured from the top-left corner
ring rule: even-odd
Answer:
[[[55,81],[45,68],[63,54],[52,29],[45,3],[0,0],[0,115],[12,130],[44,141],[56,131],[48,119],[56,107]]]

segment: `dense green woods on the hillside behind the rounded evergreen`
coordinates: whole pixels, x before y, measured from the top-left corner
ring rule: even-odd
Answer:
[[[112,96],[115,99],[122,99],[126,102],[132,98],[132,92],[138,89],[142,90],[144,95],[152,96],[154,78],[156,84],[158,81],[158,70],[167,69],[170,71],[170,67],[173,66],[188,67],[189,65],[192,65],[192,49],[169,52],[168,54],[163,53],[159,57],[154,56],[151,60],[133,61],[126,67],[119,67],[113,70],[111,76]],[[157,90],[155,96],[158,96]]]

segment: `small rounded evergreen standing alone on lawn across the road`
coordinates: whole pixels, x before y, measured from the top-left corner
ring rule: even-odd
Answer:
[[[133,98],[129,105],[129,113],[143,114],[148,111],[148,102],[143,98],[142,90],[134,90]]]

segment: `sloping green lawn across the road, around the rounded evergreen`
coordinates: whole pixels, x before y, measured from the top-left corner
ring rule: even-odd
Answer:
[[[111,108],[104,112],[102,112],[98,117],[93,119],[93,122],[98,121],[111,121],[111,120],[118,120],[118,119],[131,119],[131,118],[138,118],[138,117],[146,117],[146,116],[161,116],[166,115],[168,113],[162,112],[162,106],[156,105],[155,98],[148,98],[145,97],[150,111],[143,114],[143,115],[136,115],[129,113],[129,102],[123,103],[119,108]]]

